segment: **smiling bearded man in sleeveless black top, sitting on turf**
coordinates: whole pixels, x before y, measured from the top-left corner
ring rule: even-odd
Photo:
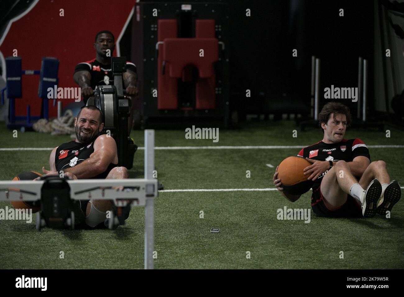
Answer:
[[[126,167],[118,167],[118,153],[114,138],[99,135],[104,123],[103,114],[94,105],[83,107],[74,119],[76,139],[55,147],[50,153],[50,171],[45,175],[59,175],[59,171],[73,179],[124,179]],[[39,178],[38,178],[39,179]],[[102,183],[100,181],[100,183]],[[77,206],[78,205],[78,206]],[[113,202],[109,200],[80,201],[75,206],[77,223],[85,221],[90,227],[104,223],[106,212]],[[85,215],[84,215],[85,214]]]

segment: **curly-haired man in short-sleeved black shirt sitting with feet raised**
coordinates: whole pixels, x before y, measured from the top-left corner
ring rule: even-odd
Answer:
[[[304,174],[314,181],[314,213],[321,217],[373,217],[376,213],[387,217],[387,211],[401,198],[400,185],[396,180],[390,181],[384,161],[370,162],[368,147],[362,140],[343,138],[351,122],[349,108],[329,102],[318,117],[323,140],[303,148],[297,155],[312,163]],[[283,191],[278,167],[273,181],[286,199],[299,199],[300,195]]]

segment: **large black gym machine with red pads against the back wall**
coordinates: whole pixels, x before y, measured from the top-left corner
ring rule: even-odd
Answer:
[[[131,57],[137,61],[139,106],[145,128],[188,127],[190,122],[227,126],[230,102],[226,3],[136,3],[132,42]],[[204,49],[203,57],[200,49]]]

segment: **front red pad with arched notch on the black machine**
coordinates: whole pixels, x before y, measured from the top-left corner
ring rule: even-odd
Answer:
[[[166,38],[163,46],[163,59],[170,64],[170,77],[181,78],[183,68],[192,64],[199,70],[200,78],[214,75],[213,63],[219,58],[216,38]],[[199,50],[204,50],[204,57]]]

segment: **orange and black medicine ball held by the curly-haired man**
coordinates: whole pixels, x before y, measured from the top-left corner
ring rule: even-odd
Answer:
[[[308,181],[310,175],[304,175],[303,169],[311,163],[305,158],[292,156],[283,160],[278,167],[278,179],[282,183],[285,192],[292,195],[302,195],[313,185],[313,181]]]

